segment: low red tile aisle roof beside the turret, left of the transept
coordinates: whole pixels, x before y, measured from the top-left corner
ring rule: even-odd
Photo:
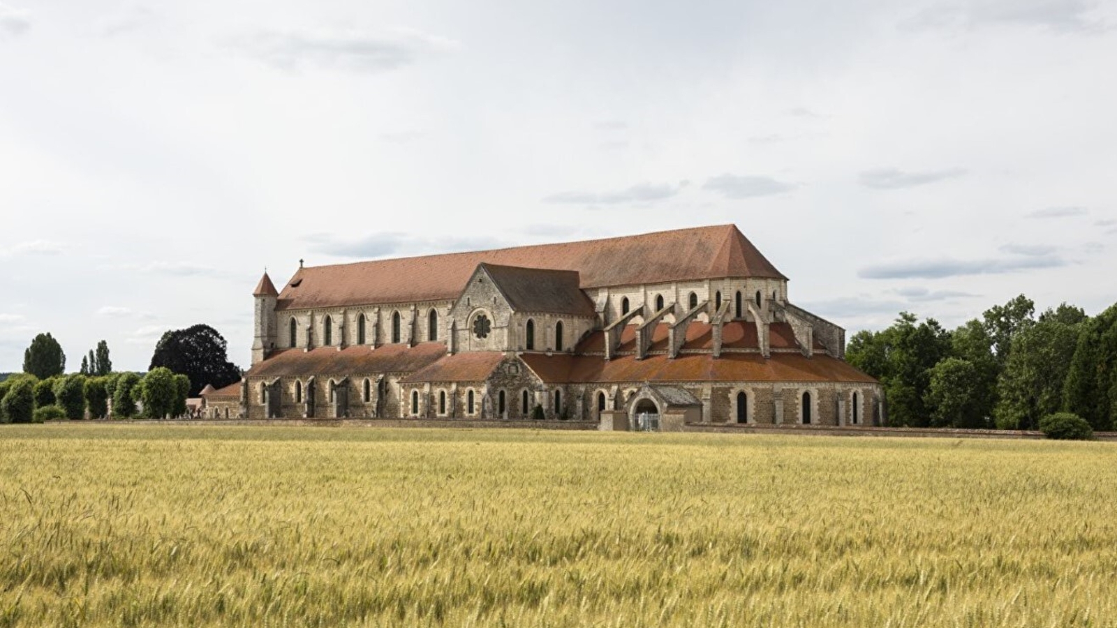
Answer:
[[[375,350],[367,345],[319,346],[311,351],[284,349],[271,353],[252,367],[246,378],[363,375],[371,373],[412,373],[446,355],[446,345],[424,342],[408,348],[405,344],[385,344]]]

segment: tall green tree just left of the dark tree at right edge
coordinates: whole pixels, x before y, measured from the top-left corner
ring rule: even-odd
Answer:
[[[1040,419],[1062,409],[1063,389],[1086,313],[1066,303],[1022,325],[997,380],[994,411],[1001,429],[1039,429]]]

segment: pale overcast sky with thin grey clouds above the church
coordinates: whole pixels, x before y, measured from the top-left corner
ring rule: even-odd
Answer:
[[[849,330],[1117,301],[1117,2],[0,0],[0,371],[298,267],[735,222]],[[638,263],[638,260],[633,260]],[[421,282],[421,277],[416,278]]]

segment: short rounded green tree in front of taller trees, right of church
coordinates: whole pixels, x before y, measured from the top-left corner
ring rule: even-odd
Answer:
[[[924,400],[933,427],[986,428],[989,413],[983,382],[968,360],[946,358],[930,369]]]

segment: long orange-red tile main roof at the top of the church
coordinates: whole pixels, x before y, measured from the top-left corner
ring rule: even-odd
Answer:
[[[450,301],[457,298],[483,263],[576,270],[581,288],[722,277],[786,279],[736,226],[720,225],[600,240],[311,266],[299,268],[284,286],[277,306],[294,310]]]

